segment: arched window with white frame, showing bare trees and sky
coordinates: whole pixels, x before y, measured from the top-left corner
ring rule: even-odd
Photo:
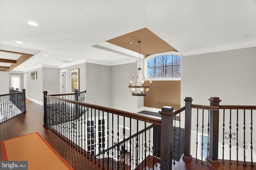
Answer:
[[[144,68],[147,79],[180,79],[180,53],[166,52],[150,55],[145,58]]]

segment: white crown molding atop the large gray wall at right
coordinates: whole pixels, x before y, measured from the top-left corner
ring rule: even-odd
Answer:
[[[206,48],[206,49],[184,51],[184,52],[181,52],[181,54],[183,56],[188,56],[188,55],[197,55],[197,54],[204,54],[204,53],[214,53],[214,52],[218,52],[218,51],[243,49],[243,48],[255,47],[255,46],[256,46],[256,36],[254,37],[254,39],[252,39],[252,41],[248,41],[248,42],[244,42],[244,43],[236,43],[236,44],[223,45],[223,46]]]

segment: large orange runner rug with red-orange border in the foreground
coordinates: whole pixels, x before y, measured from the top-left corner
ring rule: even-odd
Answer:
[[[4,160],[28,161],[28,170],[73,170],[38,133],[1,142]]]

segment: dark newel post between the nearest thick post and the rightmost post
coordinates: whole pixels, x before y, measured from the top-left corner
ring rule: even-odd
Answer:
[[[191,161],[192,156],[190,154],[190,141],[191,141],[191,118],[192,110],[191,104],[193,99],[191,97],[186,97],[185,101],[185,129],[184,129],[184,156],[183,160]]]

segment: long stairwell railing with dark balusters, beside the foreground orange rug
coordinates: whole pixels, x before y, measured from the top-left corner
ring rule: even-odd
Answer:
[[[78,114],[86,113],[74,119],[77,106],[81,108]],[[160,118],[48,96],[47,92],[44,117],[45,127],[102,168],[146,168],[160,163],[153,147],[153,131],[161,125]]]

